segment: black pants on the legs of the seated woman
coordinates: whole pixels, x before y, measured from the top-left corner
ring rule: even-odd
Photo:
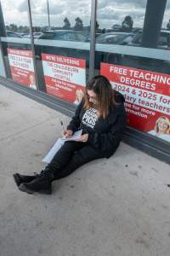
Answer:
[[[54,173],[55,179],[59,179],[68,176],[79,166],[103,157],[105,157],[104,154],[92,148],[88,143],[65,142],[46,168]]]

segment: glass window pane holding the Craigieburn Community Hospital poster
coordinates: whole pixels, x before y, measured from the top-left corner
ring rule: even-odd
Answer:
[[[91,0],[31,0],[39,87],[78,104],[88,79]]]

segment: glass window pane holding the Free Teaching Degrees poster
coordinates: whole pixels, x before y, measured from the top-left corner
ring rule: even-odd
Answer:
[[[99,0],[94,66],[95,73],[105,75],[125,97],[127,124],[166,143],[170,143],[169,10],[169,0]]]

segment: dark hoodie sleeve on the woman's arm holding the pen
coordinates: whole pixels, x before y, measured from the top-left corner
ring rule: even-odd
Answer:
[[[84,104],[84,101],[82,100],[82,102],[80,102],[80,104],[77,106],[77,110],[76,110],[74,116],[72,117],[71,122],[67,126],[68,130],[71,130],[73,132],[78,130],[80,123],[81,123],[80,112],[81,112],[83,104]]]

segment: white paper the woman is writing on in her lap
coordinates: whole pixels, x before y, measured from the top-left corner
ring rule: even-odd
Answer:
[[[82,130],[76,131],[71,137],[59,137],[54,143],[54,146],[49,150],[48,154],[42,159],[42,162],[50,163],[50,161],[54,158],[54,155],[59,151],[59,149],[63,146],[63,144],[67,141],[77,141],[79,137],[82,135]]]

